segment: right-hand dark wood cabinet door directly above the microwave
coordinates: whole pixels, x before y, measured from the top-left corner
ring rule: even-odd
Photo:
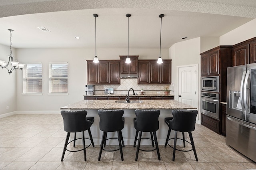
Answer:
[[[219,74],[219,50],[209,54],[209,75]]]

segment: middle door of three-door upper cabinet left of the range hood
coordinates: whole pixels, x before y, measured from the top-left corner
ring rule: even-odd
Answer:
[[[109,63],[100,61],[98,63],[98,83],[99,84],[108,84],[109,83]]]

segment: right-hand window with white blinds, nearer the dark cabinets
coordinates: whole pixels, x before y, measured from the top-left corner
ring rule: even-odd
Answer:
[[[49,63],[49,93],[68,93],[68,63]]]

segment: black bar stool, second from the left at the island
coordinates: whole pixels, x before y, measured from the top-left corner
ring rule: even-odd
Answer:
[[[103,131],[102,140],[100,144],[100,153],[98,161],[100,161],[102,150],[105,151],[116,151],[120,150],[121,159],[124,160],[122,147],[124,147],[124,139],[122,136],[122,129],[124,128],[124,110],[98,110],[98,115],[100,117],[100,130]],[[107,138],[107,132],[117,132],[119,149],[116,150],[106,150],[103,146],[106,146],[106,140],[113,139]]]

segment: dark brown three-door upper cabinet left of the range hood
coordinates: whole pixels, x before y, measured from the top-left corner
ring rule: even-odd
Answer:
[[[87,84],[120,84],[120,61],[119,60],[93,60],[87,61]]]

